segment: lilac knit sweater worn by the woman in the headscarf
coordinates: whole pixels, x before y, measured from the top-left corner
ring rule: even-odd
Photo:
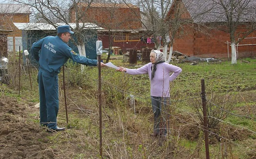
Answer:
[[[152,63],[148,63],[138,69],[126,68],[126,73],[130,75],[139,75],[148,73],[150,80],[150,95],[156,97],[170,97],[170,81],[173,81],[182,71],[181,68],[166,62],[156,65],[155,76],[151,80],[151,66]],[[170,72],[173,72],[170,76]]]

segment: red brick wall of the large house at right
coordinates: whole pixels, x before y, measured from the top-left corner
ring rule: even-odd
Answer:
[[[247,37],[256,37],[256,31]],[[225,44],[226,41],[230,42],[229,33],[218,29],[210,30],[207,32],[207,34],[194,32],[193,37],[191,34],[187,34],[180,39],[176,39],[173,50],[180,51],[187,55],[199,57],[228,58],[228,46]],[[238,57],[255,57],[256,45],[246,44],[256,44],[256,38],[243,39],[241,42],[239,42],[238,45],[243,46],[236,47]],[[231,58],[230,44],[229,58]]]

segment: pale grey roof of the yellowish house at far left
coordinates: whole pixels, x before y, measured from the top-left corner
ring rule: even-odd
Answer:
[[[30,6],[25,4],[0,4],[0,13],[30,14]]]

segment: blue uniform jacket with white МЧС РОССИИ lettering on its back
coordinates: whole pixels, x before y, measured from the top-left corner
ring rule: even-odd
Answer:
[[[68,58],[83,65],[97,66],[97,60],[79,56],[58,36],[48,36],[35,42],[31,47],[31,54],[39,62],[40,69],[49,74],[60,73],[60,68]]]

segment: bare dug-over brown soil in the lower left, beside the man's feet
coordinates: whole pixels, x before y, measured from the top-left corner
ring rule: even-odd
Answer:
[[[16,99],[0,101],[0,158],[54,158],[54,150],[47,147],[49,135],[39,125],[26,122],[29,105]]]

